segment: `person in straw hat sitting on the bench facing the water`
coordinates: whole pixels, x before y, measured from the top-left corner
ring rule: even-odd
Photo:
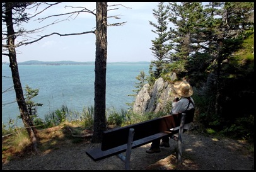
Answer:
[[[193,89],[187,81],[177,81],[173,84],[173,89],[177,93],[177,95],[181,96],[180,100],[175,98],[172,103],[172,114],[183,113],[186,110],[190,110],[194,108],[194,100],[192,99]],[[190,103],[191,102],[191,103]],[[151,147],[146,150],[147,153],[158,153],[161,152],[160,147],[170,147],[169,145],[169,137],[163,137],[162,142],[160,144],[160,139],[156,139],[151,143]]]

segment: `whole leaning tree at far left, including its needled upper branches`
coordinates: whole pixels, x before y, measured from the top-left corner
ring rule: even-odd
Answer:
[[[33,148],[37,150],[37,130],[33,127],[32,118],[28,113],[25,98],[23,95],[23,89],[20,81],[20,74],[18,70],[18,63],[16,59],[16,45],[15,39],[17,32],[15,32],[15,25],[20,25],[22,22],[29,20],[26,13],[24,13],[27,6],[32,3],[26,2],[6,2],[2,3],[2,26],[6,23],[6,31],[2,29],[2,55],[9,57],[9,67],[11,68],[11,74],[13,78],[13,87],[16,93],[16,101],[20,108],[20,116],[26,127],[30,140],[33,144]],[[6,40],[6,43],[3,43]]]

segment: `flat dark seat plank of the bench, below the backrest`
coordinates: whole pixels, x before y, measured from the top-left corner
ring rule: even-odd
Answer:
[[[161,139],[162,137],[165,137],[166,135],[171,135],[172,132],[160,132],[158,134],[150,135],[148,137],[144,137],[143,139],[135,140],[132,142],[132,149],[143,146],[144,144],[148,144],[152,142],[154,139]],[[117,146],[112,149],[108,149],[106,151],[102,151],[100,147],[96,149],[91,149],[86,151],[86,154],[90,156],[93,161],[99,161],[104,158],[108,158],[110,156],[113,156],[115,154],[120,154],[122,152],[125,152],[127,149],[127,144],[123,144],[122,146]]]

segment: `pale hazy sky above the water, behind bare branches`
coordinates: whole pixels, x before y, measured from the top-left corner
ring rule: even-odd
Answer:
[[[112,4],[122,4],[124,6],[116,6],[117,10],[108,11],[108,16],[119,16],[120,19],[108,19],[108,23],[121,23],[127,21],[123,26],[108,26],[108,57],[107,62],[137,62],[148,61],[154,59],[149,48],[152,47],[151,40],[157,35],[151,30],[155,28],[149,25],[149,21],[157,23],[153,16],[153,9],[158,9],[158,2],[108,2],[108,6]],[[46,11],[45,14],[66,13],[68,10],[64,6],[85,7],[93,11],[96,8],[95,2],[65,2],[58,4],[55,8]],[[114,7],[113,7],[114,8]],[[69,8],[70,9],[70,8]],[[110,9],[110,7],[108,7]],[[74,10],[74,9],[73,9]],[[76,9],[78,10],[78,9]],[[35,11],[30,11],[31,14]],[[37,16],[40,18],[42,16]],[[65,17],[66,18],[66,17]],[[56,25],[51,25],[44,29],[43,32],[35,35],[27,35],[32,38],[38,38],[38,35],[47,35],[52,32],[61,34],[88,32],[95,30],[95,16],[89,13],[79,14],[75,19],[69,18],[69,21],[62,21]],[[52,18],[53,20],[62,20],[61,18]],[[49,21],[38,23],[38,21],[29,21],[24,25],[26,29],[39,28],[49,24]],[[24,62],[27,60],[40,61],[60,61],[72,60],[78,62],[95,61],[95,34],[88,33],[85,35],[76,35],[68,37],[60,37],[52,35],[44,38],[37,43],[18,47],[17,61]],[[3,56],[2,62],[9,62],[8,57]]]

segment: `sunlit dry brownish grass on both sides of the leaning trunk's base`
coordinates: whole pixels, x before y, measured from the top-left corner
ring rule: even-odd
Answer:
[[[84,129],[82,125],[74,123],[61,123],[61,125],[49,129],[38,130],[38,149],[40,152],[49,152],[52,149],[59,149],[61,146],[78,144],[84,141],[83,138],[73,137],[83,135],[90,130]],[[2,138],[2,163],[14,158],[28,156],[33,149],[26,130],[18,129],[14,134]]]

